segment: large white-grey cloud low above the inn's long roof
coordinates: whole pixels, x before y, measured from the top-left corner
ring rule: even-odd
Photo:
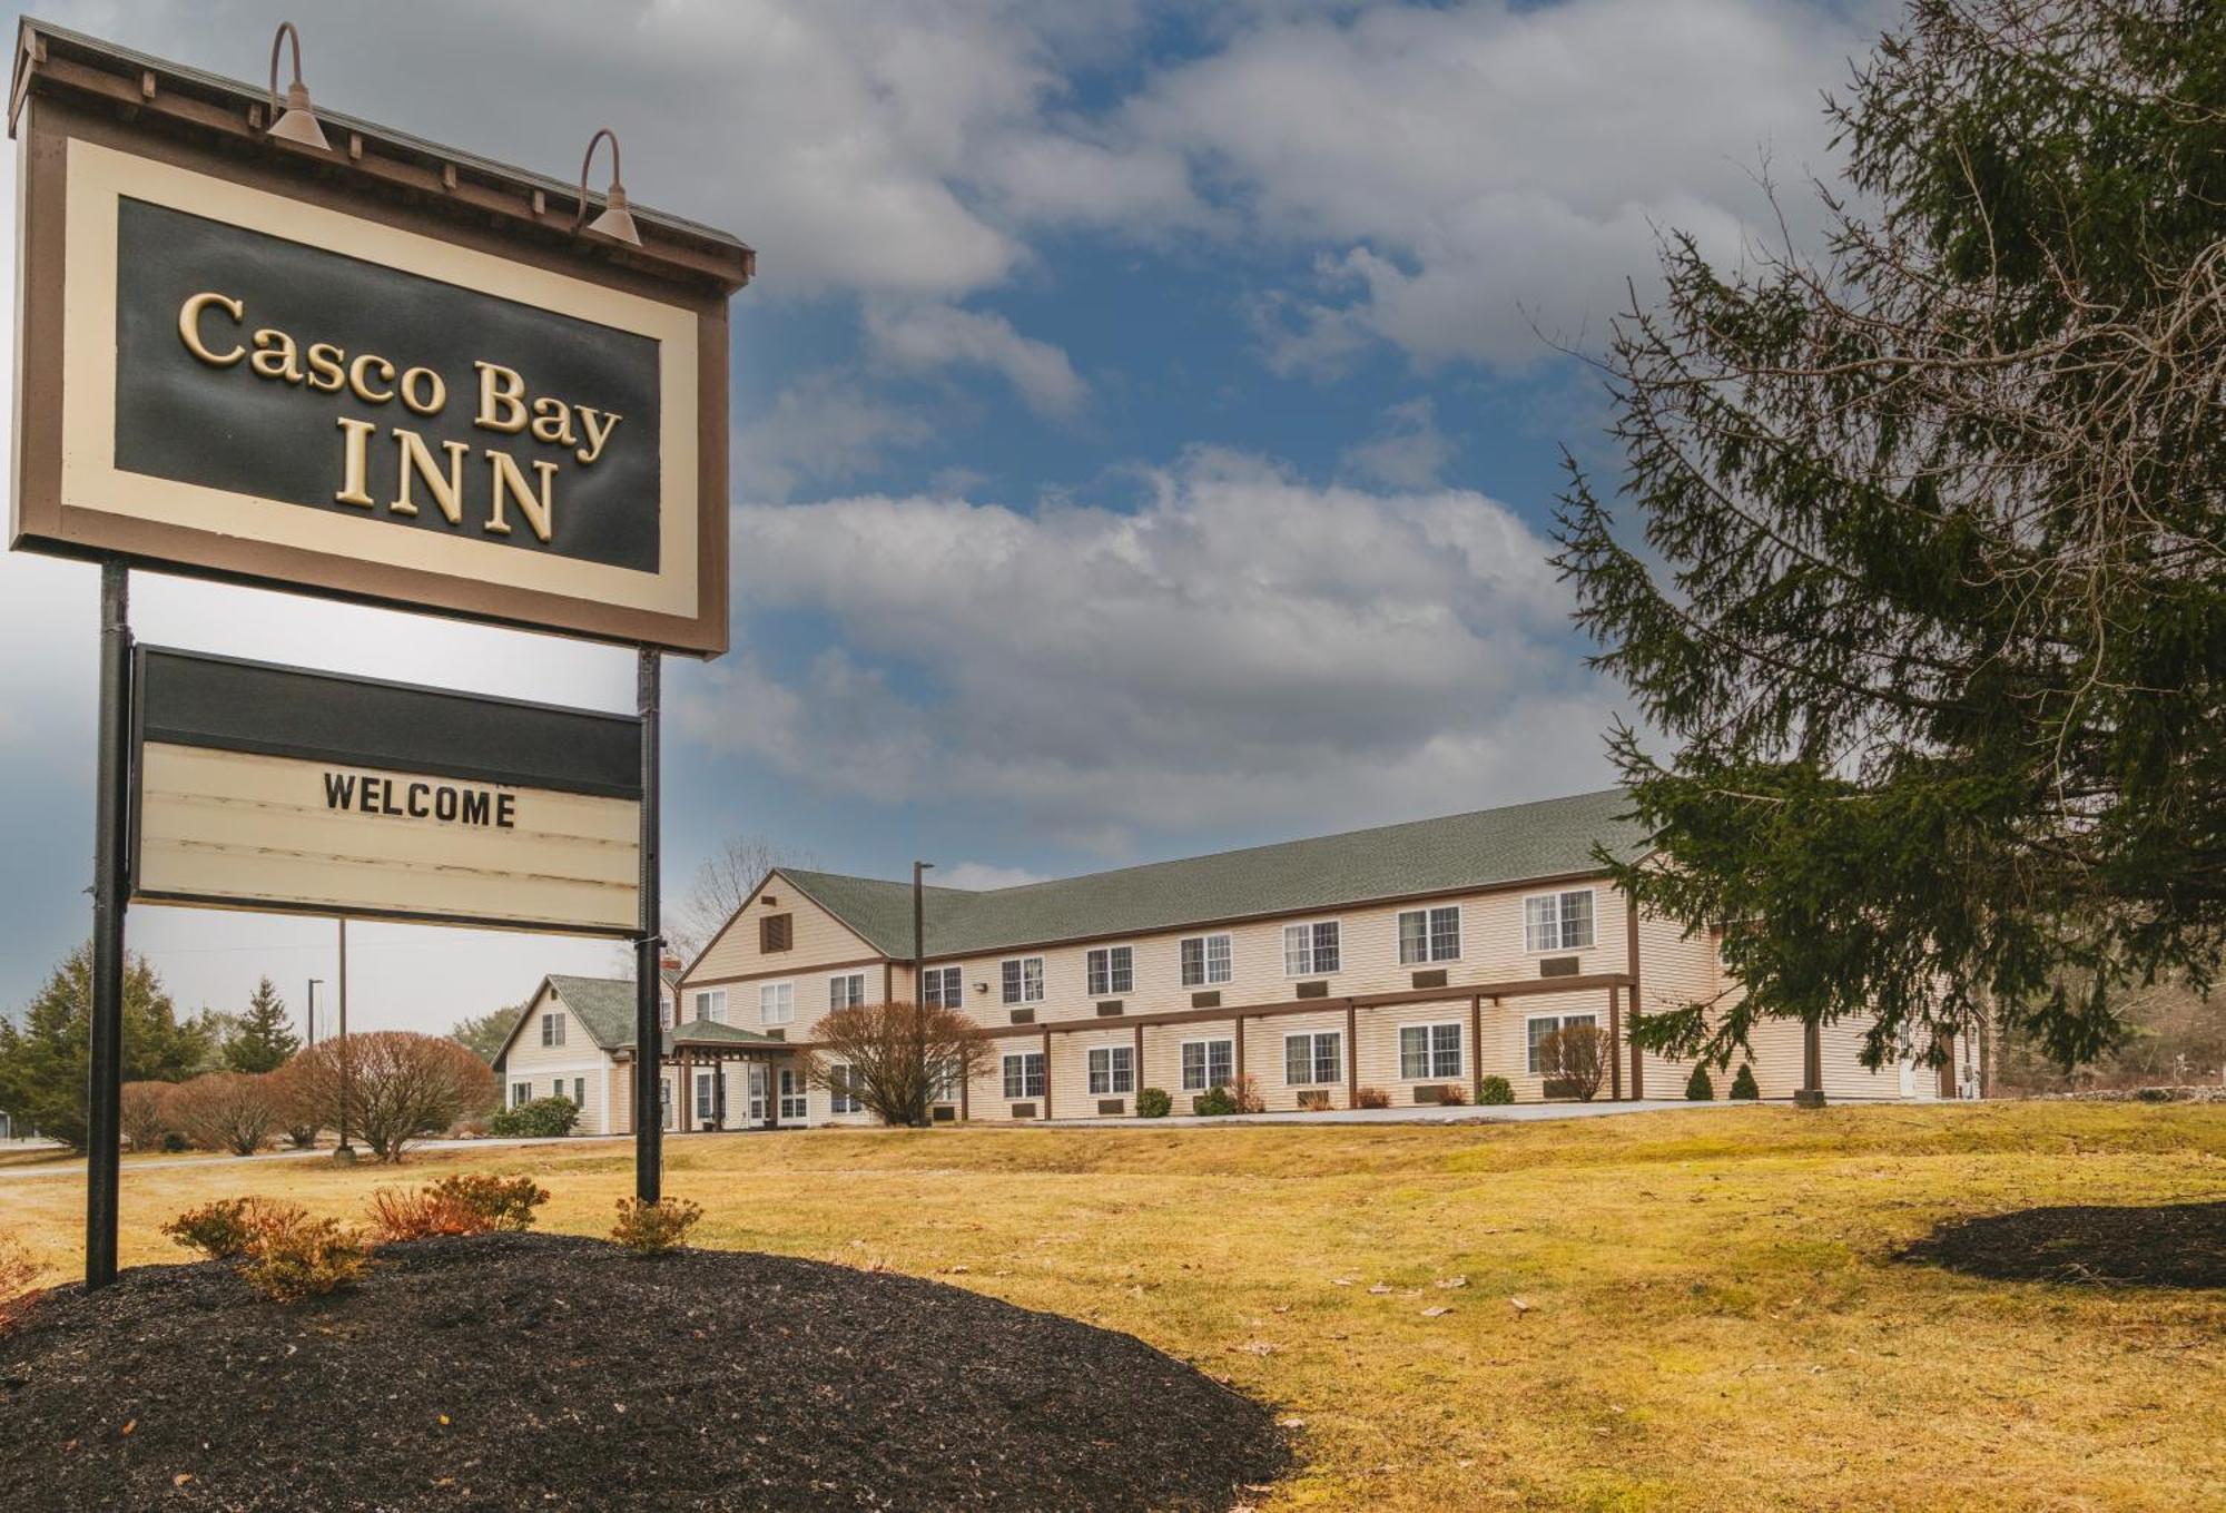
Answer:
[[[1545,543],[1465,490],[1309,487],[1198,452],[1133,514],[861,496],[735,512],[750,607],[830,616],[781,681],[748,654],[677,721],[881,803],[977,799],[1037,834],[1291,832],[1605,777],[1607,699]]]

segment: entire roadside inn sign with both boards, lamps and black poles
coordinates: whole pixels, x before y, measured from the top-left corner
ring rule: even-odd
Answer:
[[[659,659],[728,641],[755,254],[630,205],[614,136],[594,196],[585,165],[312,111],[298,78],[280,111],[33,20],[9,136],[9,543],[102,570],[87,1286],[116,1275],[129,899],[632,939],[654,1199]],[[134,565],[628,645],[639,712],[134,650]]]

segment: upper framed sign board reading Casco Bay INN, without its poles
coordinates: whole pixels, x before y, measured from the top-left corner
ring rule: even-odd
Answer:
[[[741,243],[572,234],[570,189],[329,113],[278,142],[205,76],[129,67],[127,113],[107,44],[33,42],[18,547],[726,650]]]

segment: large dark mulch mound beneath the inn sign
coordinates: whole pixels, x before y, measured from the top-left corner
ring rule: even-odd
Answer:
[[[1289,1468],[1267,1406],[1140,1339],[917,1277],[381,1257],[292,1308],[220,1264],[38,1299],[0,1333],[0,1509],[1227,1509]]]

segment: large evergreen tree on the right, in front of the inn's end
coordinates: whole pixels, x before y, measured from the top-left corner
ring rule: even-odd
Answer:
[[[1625,541],[1556,563],[1667,752],[1612,752],[1647,908],[1734,990],[1632,1037],[1994,1017],[2061,1064],[2226,948],[2226,7],[1917,0],[1828,109],[1823,258],[1665,296],[1607,358]],[[1877,207],[1877,209],[1856,209]]]

